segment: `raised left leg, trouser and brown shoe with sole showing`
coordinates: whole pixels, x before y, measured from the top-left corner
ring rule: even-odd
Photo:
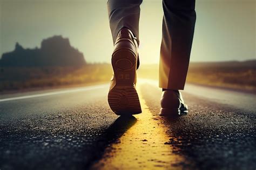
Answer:
[[[117,115],[142,112],[136,91],[138,68],[139,5],[142,0],[109,0],[110,29],[114,50],[111,63],[113,78],[107,96],[111,110]]]

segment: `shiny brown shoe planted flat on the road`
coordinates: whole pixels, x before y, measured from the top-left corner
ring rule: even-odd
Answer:
[[[159,115],[176,117],[188,113],[188,107],[184,103],[181,93],[178,90],[165,90],[161,98],[161,110]]]

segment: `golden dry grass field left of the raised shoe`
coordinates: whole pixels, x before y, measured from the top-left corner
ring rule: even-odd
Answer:
[[[3,67],[0,91],[37,87],[79,86],[109,81],[109,64],[87,64],[75,67]]]

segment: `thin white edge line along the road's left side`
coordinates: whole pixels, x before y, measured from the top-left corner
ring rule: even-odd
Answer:
[[[35,97],[43,97],[43,96],[51,96],[51,95],[56,95],[56,94],[65,94],[65,93],[73,93],[73,92],[90,91],[90,90],[96,90],[96,89],[103,89],[103,88],[105,88],[107,86],[109,86],[109,84],[101,84],[101,85],[94,85],[94,86],[79,87],[79,88],[76,88],[76,89],[60,90],[60,91],[48,92],[48,93],[42,93],[42,94],[32,94],[32,95],[28,95],[28,96],[11,97],[11,98],[0,99],[0,102],[2,102],[2,101],[11,101],[11,100],[20,100],[20,99],[28,99],[28,98],[35,98]]]

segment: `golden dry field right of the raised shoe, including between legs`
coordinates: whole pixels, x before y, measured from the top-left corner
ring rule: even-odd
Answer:
[[[138,74],[141,78],[158,79],[158,65],[142,65]],[[191,63],[186,82],[256,93],[256,60]]]

